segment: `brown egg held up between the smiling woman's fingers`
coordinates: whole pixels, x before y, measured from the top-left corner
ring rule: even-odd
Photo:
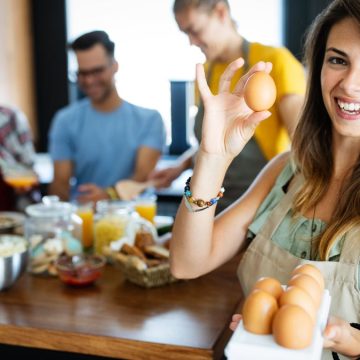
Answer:
[[[247,106],[254,111],[271,108],[276,99],[276,86],[273,78],[265,71],[253,73],[246,81],[244,98]]]

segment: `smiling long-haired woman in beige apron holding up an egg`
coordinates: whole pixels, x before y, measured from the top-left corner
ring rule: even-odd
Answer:
[[[297,265],[314,264],[332,297],[324,347],[356,358],[360,331],[350,323],[360,323],[360,2],[334,0],[314,21],[305,50],[308,88],[291,152],[274,158],[216,219],[230,163],[270,115],[247,105],[247,80],[271,74],[272,64],[257,63],[230,91],[244,61],[232,62],[218,95],[197,66],[202,140],[173,228],[171,269],[195,278],[249,244],[238,269],[247,295],[259,277],[286,284]]]

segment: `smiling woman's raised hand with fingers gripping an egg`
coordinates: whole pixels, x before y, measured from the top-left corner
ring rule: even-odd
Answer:
[[[200,148],[206,153],[235,157],[253,136],[256,126],[271,115],[269,111],[252,111],[243,95],[248,77],[256,71],[270,73],[272,64],[259,62],[254,65],[231,92],[231,79],[243,64],[244,60],[239,58],[228,65],[220,78],[218,95],[211,93],[204,68],[197,64],[197,83],[205,108]]]

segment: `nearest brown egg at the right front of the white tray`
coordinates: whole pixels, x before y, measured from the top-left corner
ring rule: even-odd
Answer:
[[[274,316],[272,331],[277,344],[289,349],[304,349],[312,342],[314,324],[300,306],[284,305]]]

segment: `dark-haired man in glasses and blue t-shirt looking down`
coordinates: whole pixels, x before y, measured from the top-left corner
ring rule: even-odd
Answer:
[[[59,110],[49,133],[54,162],[49,193],[65,201],[116,198],[114,185],[124,179],[145,181],[165,146],[159,112],[119,96],[114,47],[104,31],[86,33],[70,45],[86,97]]]

